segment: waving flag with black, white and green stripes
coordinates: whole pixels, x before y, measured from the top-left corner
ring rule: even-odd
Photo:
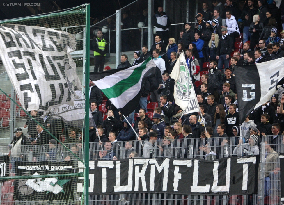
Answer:
[[[90,80],[121,113],[129,115],[139,104],[147,77],[155,75],[155,67],[156,64],[149,57],[128,68],[90,73]]]

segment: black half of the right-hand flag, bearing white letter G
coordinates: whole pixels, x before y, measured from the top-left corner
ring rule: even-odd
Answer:
[[[235,67],[240,122],[244,122],[260,101],[260,77],[256,64]]]

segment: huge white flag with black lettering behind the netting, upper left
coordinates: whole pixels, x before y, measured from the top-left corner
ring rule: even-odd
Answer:
[[[74,104],[82,89],[70,53],[75,37],[51,28],[1,24],[0,57],[23,108]]]

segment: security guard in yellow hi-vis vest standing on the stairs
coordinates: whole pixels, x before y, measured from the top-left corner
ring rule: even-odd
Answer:
[[[100,66],[99,71],[104,70],[104,62],[105,62],[105,56],[106,56],[106,40],[102,37],[102,31],[97,32],[97,38],[93,40],[93,49],[94,49],[94,72],[98,71],[98,68]]]

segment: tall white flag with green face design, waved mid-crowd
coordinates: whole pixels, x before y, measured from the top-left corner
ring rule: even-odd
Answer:
[[[178,113],[175,116],[177,117],[188,113],[200,112],[183,52],[177,59],[170,77],[175,79],[175,88],[173,93],[175,103],[183,110],[183,112]]]

